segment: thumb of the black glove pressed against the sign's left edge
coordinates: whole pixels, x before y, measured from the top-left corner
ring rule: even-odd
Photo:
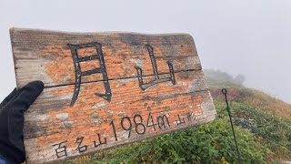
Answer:
[[[11,108],[18,111],[26,111],[31,104],[35,102],[35,99],[44,90],[44,83],[42,81],[33,81],[28,83],[25,87],[22,87],[11,102]],[[10,103],[9,103],[10,104]]]

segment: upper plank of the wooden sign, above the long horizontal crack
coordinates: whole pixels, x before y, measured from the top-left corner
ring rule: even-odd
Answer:
[[[172,61],[175,71],[201,69],[196,46],[189,35],[80,34],[27,29],[10,32],[19,87],[35,79],[42,79],[47,87],[74,84],[74,64],[67,44],[101,43],[109,79],[137,77],[135,67],[143,67],[145,76],[153,75],[145,45],[154,46],[160,74],[168,72],[167,60]],[[80,54],[94,53],[93,49],[86,49]],[[83,69],[93,67],[98,67],[94,61],[87,62]],[[95,80],[102,80],[102,76],[83,79],[84,82]]]

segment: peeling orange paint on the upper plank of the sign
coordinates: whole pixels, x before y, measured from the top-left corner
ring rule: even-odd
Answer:
[[[192,50],[193,47],[189,47]],[[173,48],[175,49],[175,48]],[[85,48],[78,50],[79,56],[91,56],[95,53],[94,50]],[[178,54],[185,55],[184,49],[177,49],[177,54],[163,54],[165,50],[162,47],[156,47],[154,49],[156,56],[157,68],[160,73],[168,73],[168,67],[166,61],[169,59],[174,64],[176,64],[175,70],[183,70],[186,67],[186,63],[181,63],[179,58],[165,57],[177,56]],[[137,53],[137,54],[136,54]],[[50,45],[45,46],[40,52],[40,56],[49,58],[50,62],[45,65],[45,74],[50,77],[55,83],[59,84],[72,84],[75,82],[75,68],[73,64],[73,59],[71,55],[71,50],[66,45]],[[152,75],[153,68],[151,65],[151,60],[148,56],[148,52],[145,47],[138,46],[133,51],[130,51],[130,46],[118,46],[113,48],[111,46],[103,46],[103,54],[105,57],[105,66],[109,78],[122,78],[122,77],[133,77],[136,76],[135,67],[138,66],[135,60],[142,62],[142,69],[144,75]],[[186,56],[194,55],[194,53],[187,53]],[[164,57],[160,57],[164,56]],[[135,60],[133,60],[135,59]],[[82,70],[90,70],[92,68],[98,67],[98,61],[93,60],[82,64]],[[140,66],[138,66],[140,67]],[[83,77],[83,81],[96,81],[102,80],[100,74],[95,74],[87,77]]]

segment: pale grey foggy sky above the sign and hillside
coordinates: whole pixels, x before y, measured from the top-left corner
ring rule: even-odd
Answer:
[[[10,27],[189,33],[204,68],[291,103],[291,0],[0,0],[0,100],[15,87]]]

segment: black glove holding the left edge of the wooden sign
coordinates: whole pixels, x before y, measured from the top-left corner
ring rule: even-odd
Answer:
[[[0,155],[9,163],[25,161],[23,141],[24,112],[44,89],[44,83],[34,81],[16,88],[0,104]]]

